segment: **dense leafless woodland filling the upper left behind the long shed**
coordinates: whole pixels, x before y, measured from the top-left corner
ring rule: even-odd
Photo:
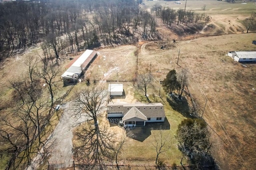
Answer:
[[[134,0],[42,0],[0,4],[0,53],[66,35],[70,51],[150,39],[156,21]]]

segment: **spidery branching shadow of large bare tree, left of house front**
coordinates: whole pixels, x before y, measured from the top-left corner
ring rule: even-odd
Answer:
[[[87,122],[75,133],[77,143],[73,148],[74,159],[101,166],[104,160],[111,159],[116,134],[110,132],[106,125],[99,126],[98,131],[95,127],[93,122]]]

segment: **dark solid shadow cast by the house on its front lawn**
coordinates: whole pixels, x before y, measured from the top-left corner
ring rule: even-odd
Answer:
[[[146,123],[146,126],[143,127],[136,127],[133,130],[130,130],[129,128],[126,129],[126,131],[132,132],[132,139],[136,141],[143,142],[145,139],[147,139],[151,135],[152,130],[159,130],[159,129],[170,129],[170,123],[168,119],[165,119],[164,122],[161,123]]]

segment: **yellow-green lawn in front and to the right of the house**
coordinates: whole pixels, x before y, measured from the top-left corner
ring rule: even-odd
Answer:
[[[150,90],[151,91],[151,90]],[[135,92],[134,96],[141,100],[143,96],[141,96],[141,92]],[[174,137],[178,124],[185,119],[185,117],[172,109],[172,107],[166,101],[166,96],[162,92],[160,97],[154,99],[154,102],[162,102],[164,104],[164,110],[166,114],[166,119],[164,123],[150,123],[147,124],[146,127],[136,127],[132,130],[134,133],[133,139],[129,139],[124,146],[123,152],[120,154],[120,160],[128,160],[132,161],[132,164],[140,164],[140,163],[148,163],[154,164],[156,159],[156,151],[152,146],[152,142],[154,142],[153,134],[159,135],[160,130],[163,130],[164,139],[167,139],[166,146],[170,146],[170,149],[166,152],[160,154],[160,160],[168,165],[172,165],[173,163],[180,164],[180,159],[182,158],[182,153],[178,150],[177,140]],[[152,100],[152,99],[150,99]],[[185,163],[185,161],[183,162]]]

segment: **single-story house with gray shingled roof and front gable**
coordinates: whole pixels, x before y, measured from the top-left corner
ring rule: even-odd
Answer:
[[[164,122],[164,106],[161,103],[108,104],[108,117],[122,117],[124,127],[145,126],[146,122]]]

